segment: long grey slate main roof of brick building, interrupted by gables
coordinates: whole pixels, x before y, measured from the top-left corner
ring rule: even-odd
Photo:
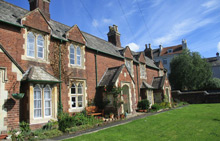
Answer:
[[[22,26],[20,23],[20,19],[26,15],[28,10],[17,7],[15,5],[12,5],[8,2],[5,2],[3,0],[0,0],[0,21],[12,23],[18,26]],[[62,40],[67,40],[65,38],[65,33],[71,28],[67,25],[64,25],[62,23],[56,22],[54,20],[48,21],[50,26],[52,27],[51,35],[55,38],[59,38]],[[82,32],[82,31],[81,31]],[[90,49],[94,49],[106,54],[110,54],[116,57],[124,58],[123,51],[125,48],[118,48],[114,46],[112,43],[105,41],[103,39],[100,39],[98,37],[95,37],[91,34],[88,34],[86,32],[82,32],[83,36],[86,39],[86,47]],[[133,60],[134,62],[138,62],[138,54],[140,52],[132,52],[134,55]],[[158,69],[152,61],[148,59],[146,61],[148,66],[151,66],[152,68]]]

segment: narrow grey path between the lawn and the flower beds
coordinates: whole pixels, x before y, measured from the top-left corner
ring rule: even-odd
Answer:
[[[179,108],[182,108],[182,107],[179,107]],[[141,118],[144,118],[144,117],[147,117],[147,116],[163,113],[163,112],[170,111],[170,110],[173,110],[173,109],[163,110],[161,112],[155,112],[155,113],[136,113],[134,115],[128,116],[124,120],[113,121],[113,122],[110,122],[108,124],[104,124],[104,125],[97,126],[95,128],[79,131],[79,132],[76,132],[76,133],[73,133],[73,134],[64,134],[64,135],[59,136],[59,137],[55,137],[55,138],[52,138],[52,139],[47,139],[46,141],[64,140],[64,139],[68,139],[68,138],[81,136],[83,134],[90,134],[90,133],[93,133],[93,132],[98,132],[98,131],[103,130],[103,129],[107,129],[107,128],[110,128],[110,127],[126,124],[126,123],[129,123],[129,122],[133,121],[133,120],[141,119]]]

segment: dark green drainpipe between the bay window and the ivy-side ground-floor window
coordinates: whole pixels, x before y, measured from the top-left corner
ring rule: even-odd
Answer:
[[[62,40],[61,43],[59,45],[59,79],[61,81],[61,44],[62,44]],[[62,106],[62,100],[61,100],[61,83],[59,83],[59,107],[58,107],[58,113],[62,113],[63,112],[63,106]]]

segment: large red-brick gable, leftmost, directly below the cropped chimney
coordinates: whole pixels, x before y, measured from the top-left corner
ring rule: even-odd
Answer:
[[[26,14],[22,19],[21,22],[23,25],[44,31],[46,33],[50,33],[51,28],[46,21],[43,14],[40,12],[39,9],[35,9],[28,14]]]

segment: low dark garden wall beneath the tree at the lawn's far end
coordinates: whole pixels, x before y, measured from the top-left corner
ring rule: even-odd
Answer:
[[[172,91],[174,102],[184,101],[190,104],[220,103],[220,92],[207,91]]]

